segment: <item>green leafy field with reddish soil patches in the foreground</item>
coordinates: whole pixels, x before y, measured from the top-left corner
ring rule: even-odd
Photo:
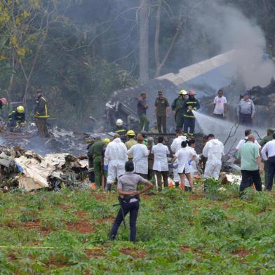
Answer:
[[[133,245],[115,192],[0,194],[0,274],[275,274],[274,195],[145,194]]]

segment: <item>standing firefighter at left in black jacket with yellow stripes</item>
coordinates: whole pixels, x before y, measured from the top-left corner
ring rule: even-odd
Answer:
[[[47,119],[48,107],[46,99],[43,98],[41,90],[36,91],[36,103],[34,107],[34,117],[36,118],[36,126],[38,128],[38,134],[41,137],[48,137]]]

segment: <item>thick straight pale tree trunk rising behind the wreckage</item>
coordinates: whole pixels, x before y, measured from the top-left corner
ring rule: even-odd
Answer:
[[[140,0],[139,29],[140,29],[140,81],[149,79],[149,0]]]

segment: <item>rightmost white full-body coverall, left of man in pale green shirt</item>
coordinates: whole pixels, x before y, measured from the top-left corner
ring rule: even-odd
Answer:
[[[213,139],[206,142],[203,148],[203,156],[207,159],[204,177],[214,177],[219,179],[220,168],[222,167],[222,155],[224,155],[224,145],[220,140]]]

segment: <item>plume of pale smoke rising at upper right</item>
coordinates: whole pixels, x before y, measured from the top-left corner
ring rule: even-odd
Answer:
[[[246,88],[267,86],[275,75],[275,66],[271,60],[262,58],[266,50],[262,29],[233,6],[215,0],[206,2],[196,11],[203,31],[220,46],[221,52],[239,50],[234,63]]]

